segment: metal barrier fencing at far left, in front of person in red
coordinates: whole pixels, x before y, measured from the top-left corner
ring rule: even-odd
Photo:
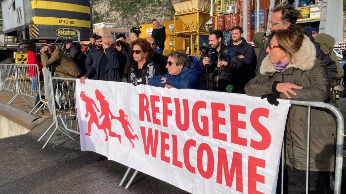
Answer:
[[[29,75],[32,77],[29,77]],[[8,104],[11,104],[18,96],[27,102],[29,100],[26,97],[42,98],[40,70],[37,64],[0,64],[0,77],[0,91],[4,91],[12,97]],[[15,92],[14,96],[9,92]],[[29,114],[34,111],[39,103],[40,101],[37,102]]]

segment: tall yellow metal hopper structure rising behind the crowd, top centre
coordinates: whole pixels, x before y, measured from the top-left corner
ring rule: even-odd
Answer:
[[[204,25],[210,20],[210,0],[172,0],[175,14],[174,21],[174,42],[177,37],[188,37],[190,39],[190,54],[200,55],[199,36],[209,35]],[[217,3],[214,4],[213,16],[217,16]],[[177,18],[184,23],[182,31],[175,29]],[[217,17],[216,17],[217,20]],[[196,49],[194,45],[196,39]]]

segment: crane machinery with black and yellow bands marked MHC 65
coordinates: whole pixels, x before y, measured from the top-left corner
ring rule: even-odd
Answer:
[[[3,0],[1,11],[0,61],[26,52],[29,42],[88,40],[92,31],[89,0]]]

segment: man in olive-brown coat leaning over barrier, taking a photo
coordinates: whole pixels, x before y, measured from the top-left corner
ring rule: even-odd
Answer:
[[[58,46],[52,44],[46,44],[42,47],[41,61],[45,67],[52,65],[59,77],[77,78],[82,72],[69,56],[62,53]]]

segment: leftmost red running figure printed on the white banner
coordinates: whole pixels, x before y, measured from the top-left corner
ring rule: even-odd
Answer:
[[[80,96],[82,100],[86,102],[87,114],[85,115],[85,117],[87,118],[90,114],[89,121],[87,122],[87,133],[84,133],[84,134],[87,136],[90,136],[91,125],[93,123],[97,126],[97,128],[100,128],[100,125],[98,125],[98,118],[97,118],[94,107],[96,108],[97,112],[100,112],[100,111],[98,110],[95,101],[91,99],[90,97],[87,97],[84,91],[81,92]],[[94,107],[92,105],[94,105]]]

